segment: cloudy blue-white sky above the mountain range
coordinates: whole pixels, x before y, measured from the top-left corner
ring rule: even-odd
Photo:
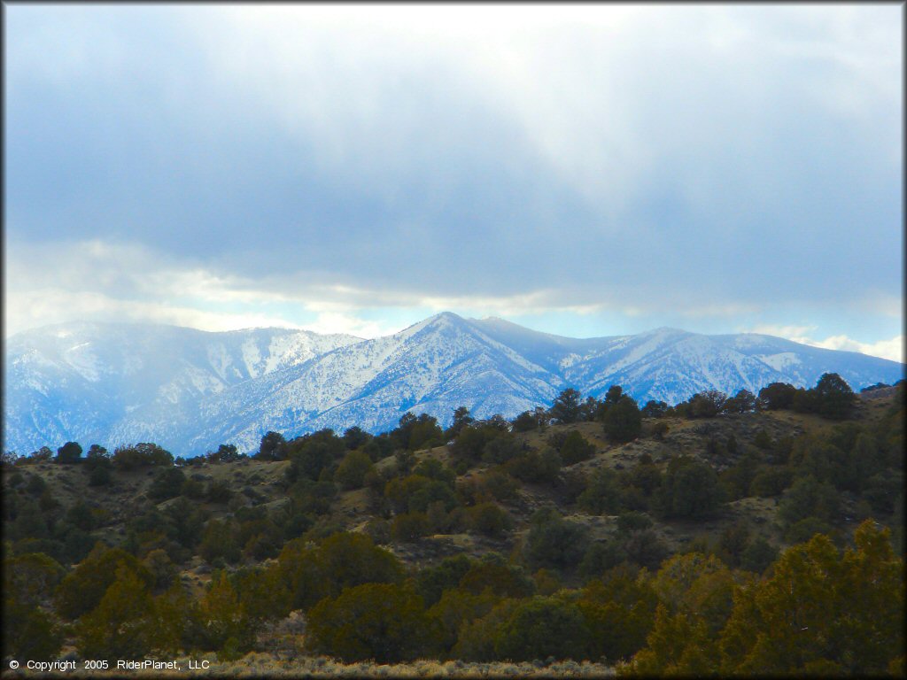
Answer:
[[[901,5],[4,5],[5,336],[448,310],[903,360]]]

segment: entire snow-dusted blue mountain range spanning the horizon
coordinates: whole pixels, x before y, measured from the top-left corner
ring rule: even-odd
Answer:
[[[900,380],[904,365],[770,335],[659,328],[576,339],[446,312],[373,340],[275,328],[63,325],[7,345],[5,449],[75,440],[157,442],[178,455],[227,442],[253,451],[268,430],[381,432],[407,411],[442,423],[461,405],[477,418],[512,417],[550,404],[566,387],[601,397],[619,384],[640,404],[678,403],[707,389],[812,386],[826,372],[858,390]]]

